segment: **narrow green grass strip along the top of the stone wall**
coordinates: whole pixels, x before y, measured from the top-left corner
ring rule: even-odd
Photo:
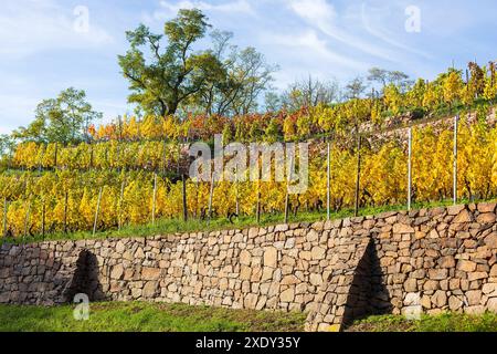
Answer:
[[[480,202],[480,201],[496,201],[493,200],[459,200],[459,204],[468,202]],[[444,201],[433,201],[433,202],[417,202],[413,204],[413,210],[422,208],[435,208],[443,206],[451,206],[452,200]],[[382,207],[367,207],[359,210],[359,216],[376,216],[381,212],[387,211],[400,211],[406,210],[406,206],[382,206]],[[331,214],[332,220],[343,219],[353,217],[355,212],[352,209],[343,209],[338,212]],[[288,222],[316,222],[326,220],[325,211],[313,211],[313,212],[298,212],[297,216],[290,215]],[[202,221],[198,219],[190,219],[187,222],[180,219],[162,219],[158,220],[156,225],[135,225],[128,226],[120,230],[106,230],[97,232],[95,236],[89,231],[80,231],[73,233],[51,233],[46,235],[45,238],[42,236],[36,237],[18,237],[18,238],[2,238],[0,243],[33,243],[40,241],[57,241],[57,240],[91,240],[91,239],[108,239],[108,238],[129,238],[129,237],[149,237],[158,235],[172,235],[172,233],[184,233],[184,232],[198,232],[198,231],[216,231],[216,230],[229,230],[229,229],[244,229],[250,227],[267,227],[279,225],[284,222],[284,215],[272,214],[262,215],[261,222],[257,223],[254,217],[243,216],[240,217],[231,223],[226,218],[216,218],[208,221]]]

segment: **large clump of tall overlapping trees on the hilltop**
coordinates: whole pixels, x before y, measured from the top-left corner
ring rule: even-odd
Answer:
[[[166,22],[163,34],[144,24],[128,31],[130,49],[118,61],[129,81],[129,103],[162,117],[181,110],[219,115],[255,111],[275,67],[253,48],[230,45],[229,32],[213,31],[211,48],[197,50],[210,28],[200,10],[183,9]]]

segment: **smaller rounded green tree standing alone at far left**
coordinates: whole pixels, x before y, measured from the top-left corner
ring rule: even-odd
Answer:
[[[13,137],[38,143],[71,144],[89,139],[88,127],[102,113],[95,112],[86,102],[86,93],[70,87],[56,98],[42,101],[35,111],[34,121],[20,127]]]

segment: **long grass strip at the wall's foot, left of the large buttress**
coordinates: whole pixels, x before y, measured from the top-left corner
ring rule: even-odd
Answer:
[[[89,320],[73,305],[0,305],[0,332],[302,332],[303,313],[142,302],[93,303]]]

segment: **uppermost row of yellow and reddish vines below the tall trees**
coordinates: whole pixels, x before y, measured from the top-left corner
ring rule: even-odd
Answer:
[[[390,83],[368,97],[303,107],[297,112],[246,114],[232,119],[215,115],[190,115],[179,119],[167,116],[118,118],[113,123],[89,128],[93,140],[209,140],[213,134],[224,133],[237,142],[293,140],[321,133],[351,129],[372,122],[381,126],[385,118],[408,113],[446,112],[465,105],[493,104],[497,98],[496,63],[488,66],[468,64],[468,73],[448,69],[434,81],[419,79],[415,83]],[[268,134],[271,133],[271,134]],[[50,155],[50,154],[49,154]]]

